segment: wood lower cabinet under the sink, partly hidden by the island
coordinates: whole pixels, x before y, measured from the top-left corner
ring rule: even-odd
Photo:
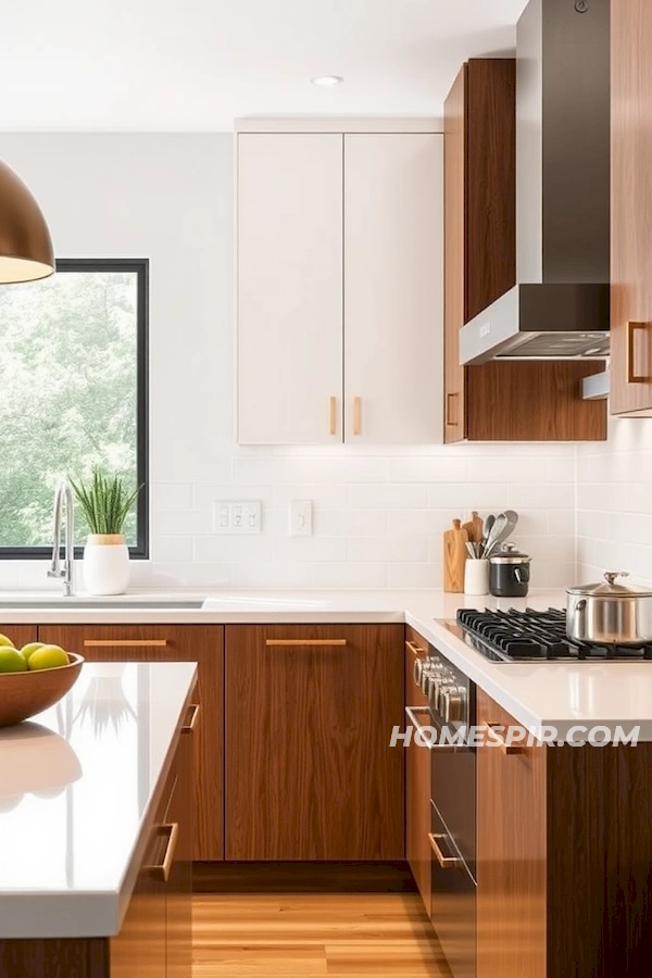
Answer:
[[[39,640],[89,662],[197,662],[201,724],[195,765],[196,860],[224,857],[224,628],[220,625],[42,625]]]

